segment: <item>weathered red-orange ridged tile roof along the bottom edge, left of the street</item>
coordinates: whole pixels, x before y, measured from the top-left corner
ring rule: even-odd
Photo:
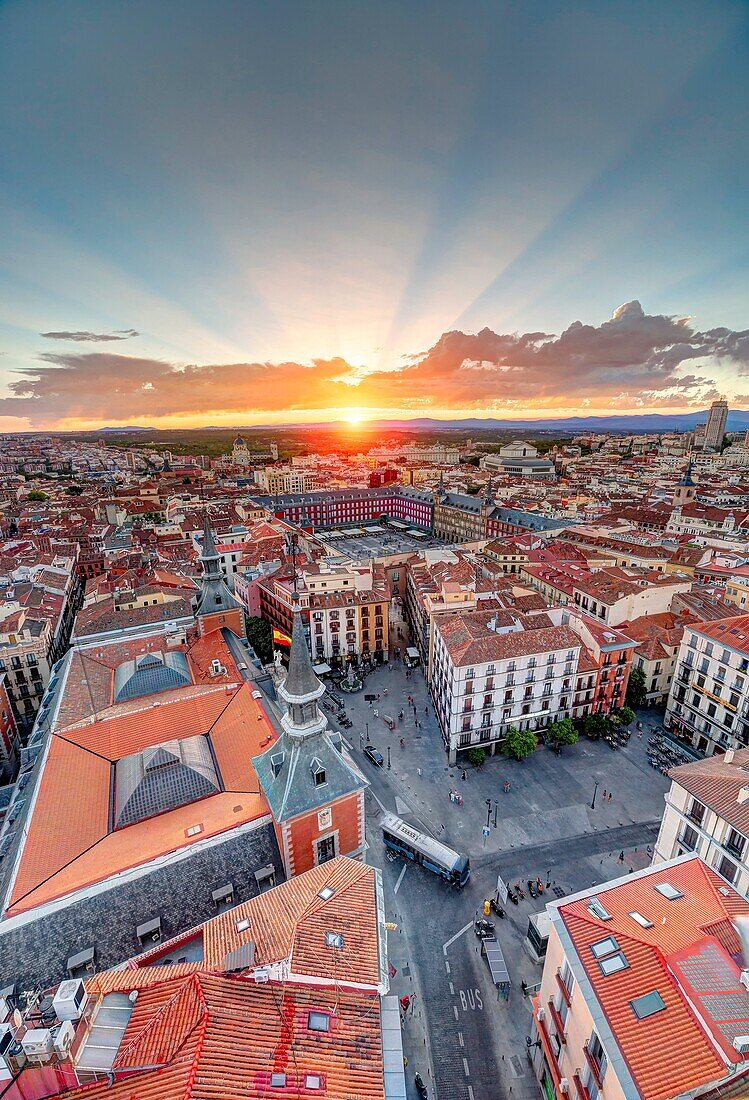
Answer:
[[[109,976],[104,976],[109,978]],[[362,992],[309,985],[256,985],[242,977],[200,974],[173,978],[158,968],[117,972],[104,988],[139,990],[114,1062],[114,1081],[65,1094],[70,1100],[261,1100],[307,1096],[308,1074],[321,1078],[310,1096],[384,1100],[379,1004]],[[99,979],[89,985],[99,991]],[[327,1033],[308,1027],[310,1011],[330,1016]],[[130,1066],[157,1066],[128,1072]],[[118,1072],[125,1076],[118,1077]],[[285,1072],[286,1088],[269,1088]]]

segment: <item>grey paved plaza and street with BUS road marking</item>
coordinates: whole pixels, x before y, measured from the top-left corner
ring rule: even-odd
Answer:
[[[365,692],[381,697],[370,705],[364,692],[346,696],[353,726],[343,733],[372,784],[366,794],[367,859],[383,870],[386,919],[397,926],[388,934],[396,970],[392,991],[412,1001],[404,1023],[409,1089],[418,1070],[430,1085],[430,1097],[440,1100],[536,1100],[539,1090],[525,1041],[530,1009],[520,982],[533,986],[541,967],[522,948],[528,919],[548,900],[649,864],[668,781],[648,765],[647,733],[643,738],[635,734],[623,750],[583,738],[560,757],[539,748],[522,763],[489,758],[481,769],[466,766],[463,780],[460,761],[447,765],[420,671],[406,679],[395,662],[389,671],[385,667],[373,673]],[[374,716],[375,708],[381,716],[397,716],[401,707],[405,719],[392,733]],[[649,721],[654,723],[654,716]],[[364,757],[367,733],[385,758],[383,768]],[[450,800],[451,789],[460,791],[462,805]],[[379,831],[386,810],[469,854],[472,876],[463,891],[423,868],[388,858]],[[526,890],[517,906],[508,903],[504,920],[493,916],[511,980],[507,1002],[497,997],[473,931],[484,899],[495,893],[498,873],[524,888],[528,878],[546,883],[548,877],[551,883],[536,900]]]

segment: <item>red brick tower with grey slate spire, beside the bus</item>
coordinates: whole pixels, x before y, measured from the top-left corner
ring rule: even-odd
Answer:
[[[282,734],[252,765],[268,800],[286,875],[335,856],[364,855],[367,781],[328,729],[319,701],[324,686],[312,668],[299,610],[294,613],[288,673],[278,689]]]

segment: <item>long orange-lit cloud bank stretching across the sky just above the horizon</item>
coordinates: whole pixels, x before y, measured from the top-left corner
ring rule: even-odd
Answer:
[[[704,407],[716,392],[715,366],[749,374],[749,330],[701,332],[690,317],[648,315],[629,301],[602,324],[573,321],[559,336],[445,332],[428,351],[370,373],[340,358],[186,365],[95,351],[45,352],[40,360],[11,383],[0,414],[44,427],[352,406],[551,414]]]

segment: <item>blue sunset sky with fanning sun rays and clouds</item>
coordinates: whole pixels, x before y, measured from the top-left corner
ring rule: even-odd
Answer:
[[[0,0],[0,430],[749,407],[749,4]]]

